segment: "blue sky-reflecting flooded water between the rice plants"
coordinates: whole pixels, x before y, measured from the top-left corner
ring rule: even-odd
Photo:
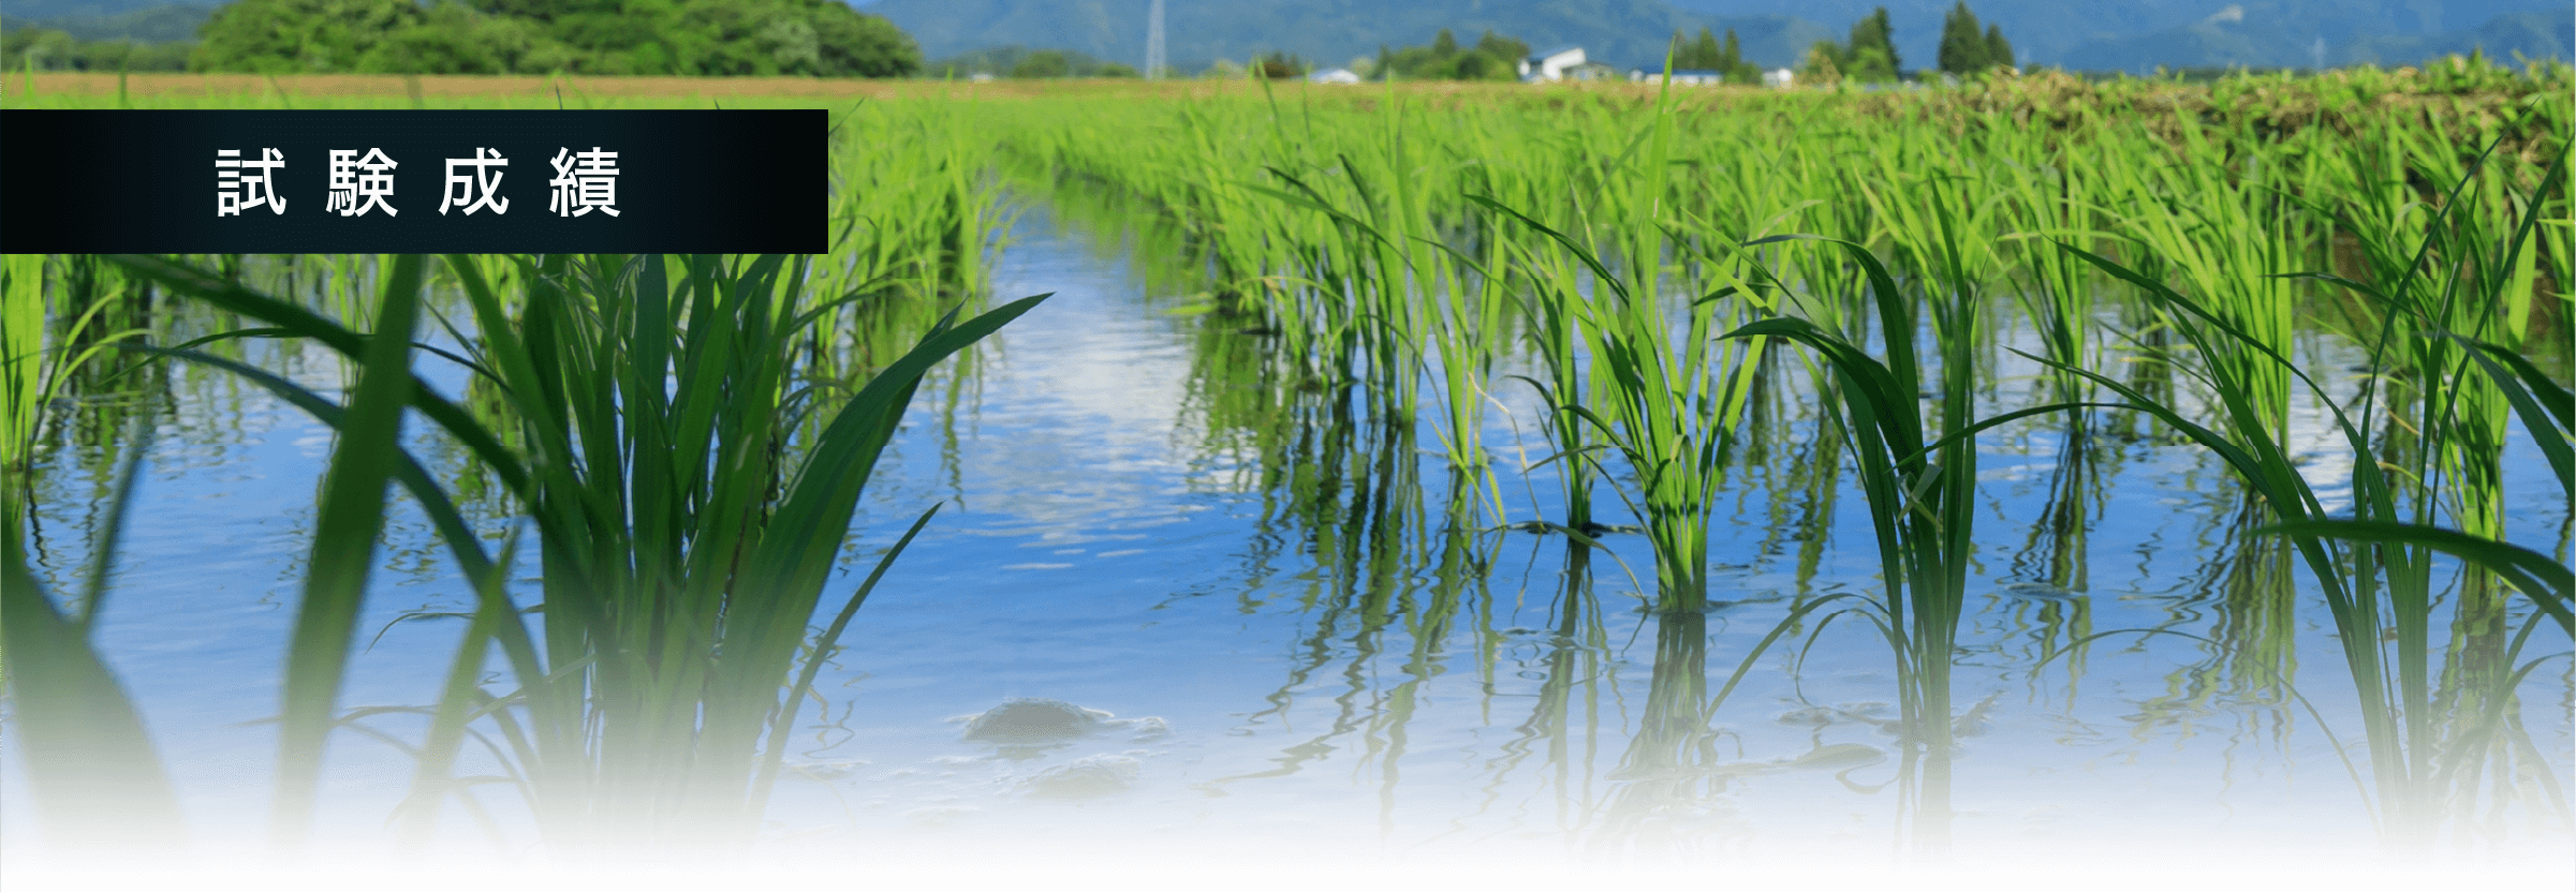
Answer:
[[[1806,378],[1757,396],[1770,425],[1716,484],[1708,610],[1659,612],[1651,543],[1615,494],[1597,499],[1600,548],[1522,525],[1561,499],[1535,391],[1497,373],[1502,412],[1479,432],[1502,517],[1445,512],[1461,479],[1427,422],[1381,425],[1329,389],[1280,386],[1273,337],[1190,314],[1193,299],[1149,286],[1151,262],[1121,232],[1043,206],[1015,219],[992,293],[1054,299],[914,396],[827,605],[917,512],[945,510],[819,674],[752,865],[1084,888],[2563,888],[2576,872],[2563,793],[2532,772],[2576,767],[2568,661],[2522,679],[2530,749],[2486,793],[2491,808],[2391,862],[2313,579],[2249,535],[2241,489],[2208,450],[2148,422],[2105,414],[2074,445],[2045,417],[1978,437],[1958,762],[1950,816],[1929,829],[1896,728],[1899,677],[1865,618],[1798,615],[1744,664],[1793,612],[1878,587],[1862,497]],[[2308,335],[2303,350],[2334,368],[2352,347]],[[2030,404],[2040,368],[1996,355],[1981,404]],[[245,360],[325,394],[345,386],[345,368],[294,342],[250,342]],[[451,363],[420,371],[464,389]],[[147,419],[95,636],[155,733],[193,847],[255,849],[276,754],[263,721],[278,710],[332,430],[211,371],[175,371],[139,407],[54,412],[67,425],[33,476],[36,571],[77,589],[137,443],[116,419]],[[410,437],[438,479],[471,479],[451,445]],[[2293,412],[2293,437],[2331,494],[2349,456],[2316,407]],[[2530,437],[2506,443],[2509,476],[2543,468]],[[510,528],[497,499],[466,504],[487,533]],[[471,610],[420,512],[399,499],[392,512],[348,708],[438,700],[461,628],[438,612]],[[2568,530],[2548,486],[2512,489],[2504,515],[2545,540]],[[2524,620],[2514,602],[2509,625]],[[317,847],[402,865],[384,816],[420,723],[366,723],[381,739],[332,739]],[[31,865],[41,831],[15,754],[0,785],[0,847]],[[513,795],[495,785],[479,800],[492,829],[451,806],[440,860],[536,857]],[[1922,854],[1927,834],[1947,836],[1947,857]],[[631,875],[574,878],[677,878],[636,860],[662,865],[629,854],[616,870]],[[54,870],[46,883],[82,878]],[[438,870],[456,867],[420,878],[448,878]]]

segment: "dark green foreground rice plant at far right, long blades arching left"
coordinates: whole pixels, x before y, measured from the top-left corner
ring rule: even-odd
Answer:
[[[2545,190],[2553,180],[2555,165],[2540,178],[2540,188]],[[2499,432],[2491,419],[2463,417],[2463,407],[2476,401],[2470,394],[2476,389],[2494,389],[2496,396],[2504,396],[2504,383],[2512,378],[2499,373],[2468,376],[2473,355],[2458,347],[2463,337],[2452,335],[2450,327],[2463,324],[2483,332],[2494,322],[2494,311],[2501,306],[2499,299],[2512,286],[2506,270],[2514,270],[2512,257],[2527,250],[2535,219],[2524,216],[2491,250],[2458,244],[2455,224],[2447,224],[2447,219],[2470,206],[2460,201],[2460,193],[2468,188],[2470,180],[2460,180],[2452,188],[2450,198],[2434,208],[2429,224],[2421,229],[2424,237],[2409,255],[2411,260],[2383,265],[2375,286],[2321,275],[2391,309],[2383,317],[2380,337],[2372,342],[2372,371],[2398,368],[2414,376],[2419,422],[2403,425],[2401,437],[2372,437],[2290,355],[2275,350],[2269,337],[2246,332],[2236,319],[2120,262],[2066,247],[2105,273],[2151,293],[2166,309],[2172,329],[2202,360],[2200,376],[2215,396],[2221,430],[2200,427],[2184,419],[2169,401],[2151,399],[2107,376],[2089,371],[2081,371],[2081,376],[2218,453],[2246,481],[2254,497],[2262,499],[2269,517],[2277,520],[2275,530],[2287,535],[2290,548],[2318,579],[2336,625],[2344,667],[2362,700],[2372,775],[2370,790],[2375,790],[2372,811],[2380,831],[2393,844],[2419,844],[2455,813],[2445,800],[2465,795],[2458,785],[2476,780],[2478,772],[2473,767],[2499,741],[2494,723],[2509,713],[2512,685],[2522,679],[2512,661],[2530,636],[2524,631],[2512,636],[2509,643],[2496,638],[2491,649],[2455,651],[2455,667],[2460,667],[2460,659],[2476,654],[2483,654],[2494,664],[2463,667],[2460,674],[2450,674],[2450,679],[2437,685],[2432,679],[2434,654],[2429,646],[2437,605],[2432,553],[2458,553],[2460,543],[2494,543],[2494,538],[2481,533],[2458,533],[2468,540],[2439,540],[2432,533],[2396,535],[2401,530],[2439,530],[2434,520],[2442,515],[2460,522],[2494,522],[2494,515],[2488,515],[2494,494],[2488,489],[2496,484],[2486,484],[2481,476],[2460,474],[2458,468],[2460,458],[2481,450],[2478,443],[2499,443],[2494,440]],[[2468,252],[2483,255],[2465,257]],[[2393,252],[2383,250],[2383,255]],[[2470,306],[2473,311],[2460,311],[2458,306]],[[2401,345],[2396,332],[2406,332],[2409,342]],[[2257,360],[2269,363],[2269,371],[2257,376]],[[2269,399],[2269,381],[2277,376],[2290,376],[2313,391],[2318,404],[2329,409],[2334,432],[2352,450],[2349,520],[2329,515],[2324,499],[2318,499],[2282,443],[2277,425],[2280,404]],[[2378,381],[2378,376],[2365,381]],[[2517,389],[2514,394],[2522,391]],[[2514,404],[2537,401],[2522,399]],[[2375,396],[2365,394],[2360,407],[2367,419],[2375,412]],[[2550,417],[2537,412],[2527,414],[2527,419],[2535,425],[2535,435],[2545,425],[2553,425]],[[2548,432],[2555,435],[2555,427],[2548,427]],[[2553,466],[2561,466],[2561,461],[2553,458]],[[2329,530],[2383,546],[2347,548]],[[2486,556],[2478,561],[2504,558]],[[2522,582],[2532,579],[2530,574],[2522,576]],[[2517,582],[2517,589],[2532,600],[2545,602],[2550,592],[2558,592],[2553,589],[2555,584],[2532,589],[2522,582]],[[2463,623],[2470,623],[2468,633],[2478,638],[2481,631],[2476,625],[2494,625],[2501,620],[2501,612],[2491,612],[2491,600],[2476,594],[2476,576],[2465,587],[2468,592],[2460,600]],[[2537,769],[2545,775],[2545,762]],[[2553,787],[2553,782],[2545,785]]]

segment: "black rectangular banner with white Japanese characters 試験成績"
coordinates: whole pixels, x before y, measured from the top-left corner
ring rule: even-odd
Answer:
[[[822,111],[0,111],[0,252],[791,252]]]

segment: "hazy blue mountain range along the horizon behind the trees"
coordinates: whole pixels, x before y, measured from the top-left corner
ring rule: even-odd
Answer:
[[[1149,0],[850,0],[886,15],[930,59],[976,49],[1072,49],[1144,64]],[[1597,62],[1654,67],[1674,31],[1734,28],[1744,57],[1795,64],[1819,39],[1886,5],[1906,69],[1932,67],[1940,21],[1955,0],[1164,0],[1170,59],[1291,51],[1347,64],[1378,46],[1430,44],[1484,28],[1535,49],[1584,46]],[[8,28],[49,26],[82,39],[185,39],[211,5],[170,0],[5,0]],[[2069,69],[2414,64],[2483,49],[2512,59],[2576,59],[2571,0],[1971,0],[1999,23],[2022,62]]]

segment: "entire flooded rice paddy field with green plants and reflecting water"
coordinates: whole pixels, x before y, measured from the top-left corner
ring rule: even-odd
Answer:
[[[8,255],[5,885],[2576,883],[2576,69],[829,108],[832,252]]]

